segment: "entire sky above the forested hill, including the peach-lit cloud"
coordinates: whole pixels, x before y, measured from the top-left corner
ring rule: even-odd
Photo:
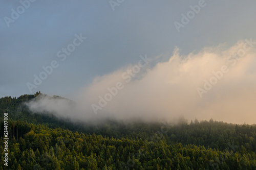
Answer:
[[[0,97],[60,95],[79,101],[78,118],[184,115],[253,124],[255,5],[1,1]],[[31,107],[63,113],[50,104]]]

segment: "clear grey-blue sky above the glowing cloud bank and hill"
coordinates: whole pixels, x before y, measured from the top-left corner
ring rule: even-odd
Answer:
[[[26,1],[22,1],[26,2]],[[0,96],[31,93],[26,85],[39,75],[42,66],[60,61],[56,53],[72,43],[74,34],[87,39],[59,63],[37,88],[48,94],[70,96],[138,56],[182,54],[220,43],[235,44],[255,38],[255,1],[205,1],[190,22],[178,33],[174,22],[199,1],[127,1],[111,8],[109,1],[35,1],[7,26],[19,1],[0,2]]]

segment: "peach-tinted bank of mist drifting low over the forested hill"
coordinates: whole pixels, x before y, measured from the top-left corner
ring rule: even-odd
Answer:
[[[219,120],[255,124],[256,44],[220,44],[180,55],[142,55],[138,62],[110,74],[70,96],[74,101],[41,95],[27,103],[33,112],[51,112],[71,120]]]

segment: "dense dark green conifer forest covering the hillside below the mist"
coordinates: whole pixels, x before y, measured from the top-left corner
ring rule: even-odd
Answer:
[[[0,169],[256,169],[256,125],[212,119],[74,124],[30,112],[24,102],[37,95],[0,99],[2,155],[4,113],[9,116],[8,167],[2,156]]]

